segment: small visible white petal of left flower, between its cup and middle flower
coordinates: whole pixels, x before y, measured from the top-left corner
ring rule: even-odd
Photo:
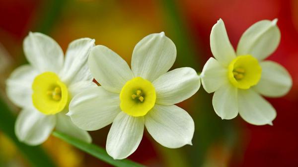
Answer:
[[[74,97],[78,93],[83,92],[86,89],[94,88],[94,87],[97,87],[97,85],[96,85],[96,83],[94,83],[92,81],[80,81],[80,82],[76,82],[76,83],[70,85],[68,87],[68,91],[69,91],[71,97]]]

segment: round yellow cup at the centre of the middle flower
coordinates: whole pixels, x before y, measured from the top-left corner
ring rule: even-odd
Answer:
[[[150,81],[141,77],[127,81],[120,92],[120,108],[132,116],[146,115],[155,101],[155,88]]]

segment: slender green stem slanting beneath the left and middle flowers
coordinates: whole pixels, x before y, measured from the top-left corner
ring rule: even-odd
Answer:
[[[105,149],[100,148],[94,144],[85,143],[83,141],[80,141],[74,137],[68,136],[61,132],[54,131],[53,135],[66,141],[67,143],[73,145],[74,147],[98,158],[99,160],[102,160],[110,165],[115,166],[115,167],[145,167],[141,164],[135,163],[135,162],[127,160],[127,159],[114,160],[112,157],[110,157],[107,154]]]

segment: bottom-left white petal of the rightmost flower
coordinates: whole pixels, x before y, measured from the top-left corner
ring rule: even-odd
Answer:
[[[222,119],[232,119],[238,114],[238,89],[230,83],[215,91],[212,99],[214,111]]]

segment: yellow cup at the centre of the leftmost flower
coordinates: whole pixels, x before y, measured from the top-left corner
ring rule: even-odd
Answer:
[[[44,114],[56,114],[67,106],[69,92],[54,72],[44,72],[32,84],[33,106]]]

